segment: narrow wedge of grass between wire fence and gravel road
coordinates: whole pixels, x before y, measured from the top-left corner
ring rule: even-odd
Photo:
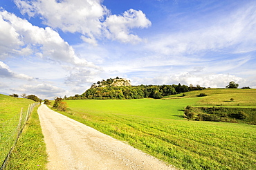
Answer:
[[[44,135],[34,108],[10,155],[6,169],[46,169],[47,153]]]

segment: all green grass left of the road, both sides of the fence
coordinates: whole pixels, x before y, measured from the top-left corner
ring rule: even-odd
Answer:
[[[19,117],[28,110],[33,100],[10,97],[0,94],[0,164],[9,153],[17,138]],[[24,124],[24,119],[21,124]],[[41,127],[35,108],[21,138],[17,141],[8,160],[6,169],[42,169],[45,167],[47,154]],[[37,166],[39,165],[39,166]]]

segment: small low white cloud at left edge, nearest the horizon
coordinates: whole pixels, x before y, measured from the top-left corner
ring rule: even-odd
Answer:
[[[9,66],[7,66],[1,61],[0,61],[0,77],[33,80],[33,77],[13,72],[12,70],[10,70]]]

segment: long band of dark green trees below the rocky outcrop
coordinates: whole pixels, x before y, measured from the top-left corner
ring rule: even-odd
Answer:
[[[82,95],[64,97],[64,100],[81,100],[81,99],[141,99],[151,97],[160,99],[167,95],[175,95],[188,91],[203,90],[204,87],[199,85],[140,85],[140,86],[115,86],[115,87],[98,87],[90,88]]]

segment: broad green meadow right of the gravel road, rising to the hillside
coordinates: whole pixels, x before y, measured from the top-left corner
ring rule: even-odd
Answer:
[[[206,89],[162,100],[69,100],[63,114],[180,169],[256,169],[256,126],[183,117],[188,105],[256,106],[255,89],[246,90]],[[225,102],[230,97],[235,101]]]

